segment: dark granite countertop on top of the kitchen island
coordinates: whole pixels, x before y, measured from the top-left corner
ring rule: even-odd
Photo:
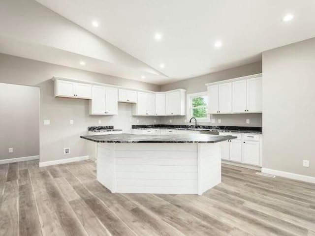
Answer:
[[[178,134],[178,135],[134,135],[108,134],[80,136],[82,139],[96,143],[218,143],[236,139],[234,136],[220,136],[209,134]]]

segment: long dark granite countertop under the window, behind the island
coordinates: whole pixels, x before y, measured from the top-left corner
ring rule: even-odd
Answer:
[[[148,124],[148,125],[132,125],[132,129],[182,129],[182,130],[209,130],[219,132],[234,133],[255,133],[262,134],[261,127],[248,126],[210,126],[210,125],[171,125],[171,124]]]

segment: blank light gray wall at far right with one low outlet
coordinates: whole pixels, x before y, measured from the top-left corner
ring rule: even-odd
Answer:
[[[263,167],[315,177],[315,38],[264,52],[262,68]]]

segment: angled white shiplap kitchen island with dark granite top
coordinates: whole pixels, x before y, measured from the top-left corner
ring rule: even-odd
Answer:
[[[221,182],[219,142],[233,136],[88,135],[97,180],[113,193],[202,194]]]

